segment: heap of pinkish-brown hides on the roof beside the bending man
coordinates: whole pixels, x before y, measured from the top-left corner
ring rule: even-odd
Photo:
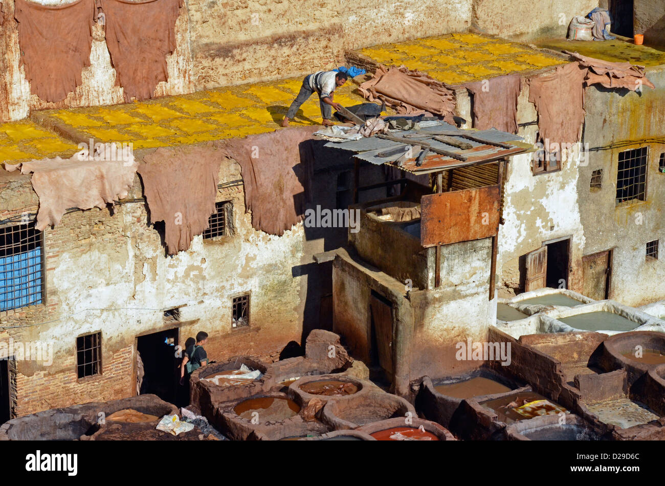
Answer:
[[[398,113],[420,114],[428,112],[444,116],[454,123],[454,92],[434,78],[417,70],[379,65],[374,77],[360,84],[362,96],[370,101],[382,100]]]

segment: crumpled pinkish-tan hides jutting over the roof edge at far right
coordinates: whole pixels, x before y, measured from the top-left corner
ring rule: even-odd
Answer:
[[[642,89],[642,86],[649,86],[654,89],[656,86],[646,78],[644,66],[635,66],[630,62],[610,62],[602,59],[586,57],[578,53],[569,53],[573,59],[580,61],[580,65],[589,68],[585,83],[602,84],[606,88],[626,88],[631,91]]]

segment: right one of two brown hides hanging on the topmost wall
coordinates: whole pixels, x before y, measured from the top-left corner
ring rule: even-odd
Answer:
[[[106,17],[106,45],[125,101],[152,98],[168,80],[166,56],[176,50],[181,0],[100,0]]]

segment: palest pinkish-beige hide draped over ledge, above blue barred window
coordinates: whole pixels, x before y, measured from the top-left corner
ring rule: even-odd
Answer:
[[[134,184],[134,156],[126,160],[43,159],[17,165],[5,164],[9,172],[21,167],[32,173],[31,182],[39,197],[35,228],[44,231],[60,223],[70,207],[103,209],[106,204],[127,197]]]

